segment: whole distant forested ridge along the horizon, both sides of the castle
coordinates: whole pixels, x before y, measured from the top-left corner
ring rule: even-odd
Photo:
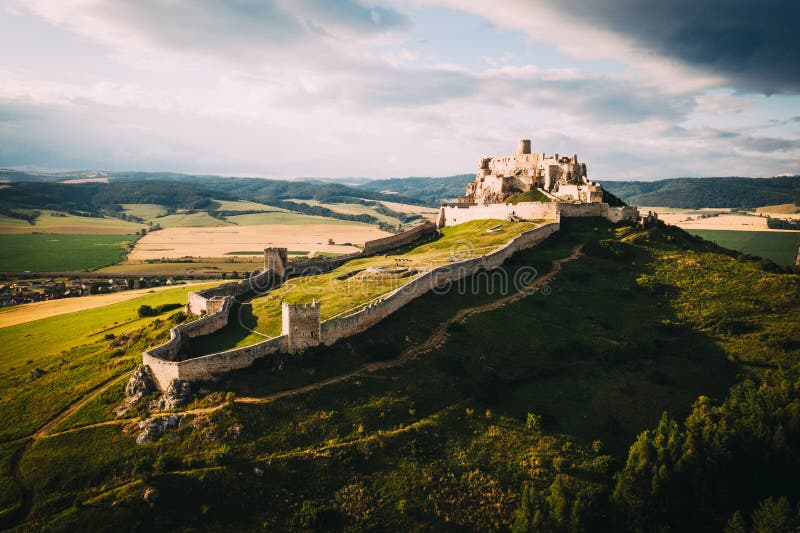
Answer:
[[[218,191],[231,197],[262,203],[291,198],[341,201],[342,198],[392,200],[396,202],[438,206],[442,201],[464,194],[474,174],[444,177],[408,178],[304,178],[274,180],[265,178],[233,178],[216,175],[180,174],[176,172],[103,172],[78,171],[39,173],[0,169],[0,180],[57,184],[75,179],[106,178],[110,184],[123,181],[160,181],[193,184],[205,190]],[[342,182],[348,182],[347,185]],[[600,182],[609,193],[628,204],[699,209],[703,207],[744,207],[795,203],[800,205],[800,176],[773,178],[709,177],[669,178],[658,181]],[[96,184],[100,185],[100,184]],[[76,185],[70,185],[75,187]],[[115,187],[112,187],[115,188]],[[8,193],[10,191],[6,191]],[[3,200],[0,194],[0,203]],[[206,196],[201,193],[201,196]]]

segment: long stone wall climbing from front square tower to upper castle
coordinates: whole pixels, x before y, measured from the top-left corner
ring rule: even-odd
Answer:
[[[491,254],[434,268],[353,314],[327,320],[321,327],[322,343],[329,346],[365,331],[435,287],[471,276],[481,269],[498,268],[513,254],[539,244],[559,227],[558,222],[548,224],[519,235]]]

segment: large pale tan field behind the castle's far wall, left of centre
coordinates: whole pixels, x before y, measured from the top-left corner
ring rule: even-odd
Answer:
[[[281,213],[278,213],[282,215]],[[242,215],[260,216],[260,215]],[[303,216],[303,215],[300,215]],[[239,218],[239,217],[231,217]],[[310,218],[305,217],[304,218]],[[166,228],[148,233],[128,254],[130,261],[178,257],[225,257],[239,250],[284,247],[309,252],[352,253],[352,244],[386,237],[388,233],[368,224],[273,224],[220,228]],[[336,244],[328,244],[333,239]],[[352,243],[345,245],[344,243]]]

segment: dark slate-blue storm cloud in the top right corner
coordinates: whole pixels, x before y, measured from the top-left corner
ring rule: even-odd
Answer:
[[[800,93],[796,0],[559,0],[554,7],[723,75],[741,90]]]

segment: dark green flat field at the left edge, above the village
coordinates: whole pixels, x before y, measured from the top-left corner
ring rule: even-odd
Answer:
[[[0,235],[0,271],[59,272],[118,262],[132,235]]]

